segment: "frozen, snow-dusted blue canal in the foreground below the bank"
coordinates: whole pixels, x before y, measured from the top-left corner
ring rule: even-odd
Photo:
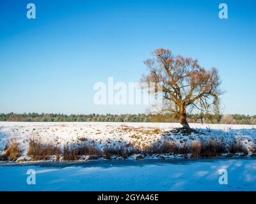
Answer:
[[[220,169],[228,184],[219,184]],[[256,159],[0,163],[0,191],[256,191]]]

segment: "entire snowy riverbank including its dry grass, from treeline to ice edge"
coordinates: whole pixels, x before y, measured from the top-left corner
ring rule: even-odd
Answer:
[[[0,122],[0,160],[256,157],[256,126],[122,122]]]

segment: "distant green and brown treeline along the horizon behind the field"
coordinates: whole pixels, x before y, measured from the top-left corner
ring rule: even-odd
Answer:
[[[170,114],[88,114],[65,115],[56,113],[1,113],[0,121],[10,122],[179,122]],[[212,115],[191,114],[188,122],[221,123],[221,124],[256,124],[256,115]]]

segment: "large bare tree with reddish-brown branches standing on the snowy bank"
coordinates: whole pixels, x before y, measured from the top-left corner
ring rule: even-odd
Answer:
[[[218,112],[221,81],[216,68],[206,71],[197,60],[175,56],[164,48],[152,55],[144,61],[149,73],[141,82],[163,85],[163,112],[174,114],[184,128],[189,128],[188,112]]]

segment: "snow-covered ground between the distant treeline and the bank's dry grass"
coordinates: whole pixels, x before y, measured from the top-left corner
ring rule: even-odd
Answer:
[[[256,148],[256,126],[226,124],[190,124],[203,134],[174,133],[177,123],[132,122],[0,122],[0,154],[10,140],[18,142],[26,157],[29,139],[40,139],[60,147],[67,144],[93,141],[99,149],[132,144],[139,149],[163,141],[179,145],[214,138],[228,145],[234,138],[249,150]]]

